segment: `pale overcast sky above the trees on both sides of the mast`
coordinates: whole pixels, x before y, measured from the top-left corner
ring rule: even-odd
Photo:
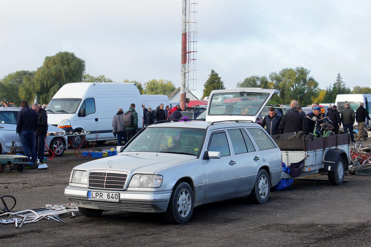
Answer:
[[[227,88],[283,68],[338,73],[370,87],[371,1],[198,0],[197,91],[211,69]],[[69,51],[86,73],[116,82],[165,79],[180,87],[181,0],[0,0],[0,78]]]

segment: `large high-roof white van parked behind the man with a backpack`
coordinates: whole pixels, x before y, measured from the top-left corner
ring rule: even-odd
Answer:
[[[129,110],[134,103],[138,128],[143,127],[143,111],[139,90],[134,83],[68,83],[61,87],[46,107],[48,123],[66,132],[91,131],[86,141],[115,140],[112,119],[119,108]],[[72,143],[77,147],[81,137]]]

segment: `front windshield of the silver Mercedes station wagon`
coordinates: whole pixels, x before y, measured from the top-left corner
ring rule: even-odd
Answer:
[[[197,156],[205,130],[199,128],[150,127],[135,137],[123,152],[179,153]]]

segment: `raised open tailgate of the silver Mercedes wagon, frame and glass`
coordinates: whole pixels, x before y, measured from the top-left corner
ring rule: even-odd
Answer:
[[[210,93],[206,121],[250,120],[255,122],[263,107],[280,90],[237,88]]]

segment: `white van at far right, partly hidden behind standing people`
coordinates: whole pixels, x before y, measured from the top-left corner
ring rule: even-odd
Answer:
[[[335,106],[337,107],[339,113],[345,109],[345,104],[349,104],[350,108],[354,110],[354,113],[357,111],[359,104],[364,103],[365,109],[370,113],[371,109],[371,94],[338,94],[335,100]],[[371,117],[371,114],[369,114]],[[355,124],[358,124],[357,121]],[[365,126],[370,125],[368,119],[366,118]],[[342,126],[339,129],[343,130]]]

